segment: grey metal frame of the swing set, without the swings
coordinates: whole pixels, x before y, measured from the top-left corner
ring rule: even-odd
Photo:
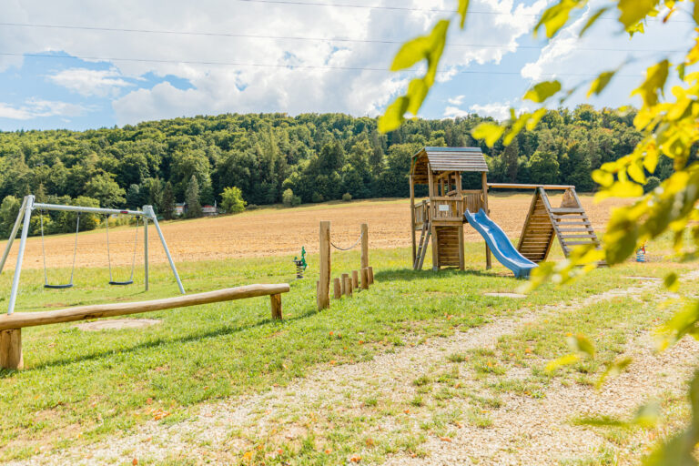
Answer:
[[[12,279],[12,290],[10,291],[10,301],[7,306],[7,314],[10,315],[15,311],[15,301],[17,299],[17,290],[19,289],[19,278],[22,273],[22,261],[25,257],[25,246],[26,237],[29,233],[29,220],[32,217],[33,210],[62,210],[66,212],[84,212],[87,214],[117,214],[117,215],[127,215],[132,217],[143,218],[143,229],[144,229],[144,285],[146,290],[148,289],[148,220],[153,222],[156,227],[157,236],[160,238],[160,243],[163,245],[165,250],[165,255],[167,256],[167,261],[170,263],[170,268],[172,269],[172,274],[175,276],[177,281],[177,287],[179,292],[185,294],[185,289],[182,287],[182,281],[179,279],[179,274],[177,274],[177,268],[175,267],[175,261],[170,255],[170,250],[167,248],[167,243],[160,226],[157,223],[156,212],[153,210],[153,206],[143,206],[142,210],[121,210],[117,208],[88,208],[83,206],[62,206],[60,204],[44,204],[35,202],[35,197],[33,195],[25,196],[22,200],[22,206],[19,208],[19,213],[17,214],[17,219],[15,220],[15,226],[12,228],[12,233],[10,233],[10,238],[7,240],[5,246],[5,252],[3,253],[3,258],[0,259],[0,273],[2,273],[5,268],[5,262],[10,254],[10,249],[12,248],[12,243],[15,241],[17,236],[17,231],[19,226],[22,225],[22,235],[19,239],[19,251],[17,252],[17,263],[15,266],[15,275]]]

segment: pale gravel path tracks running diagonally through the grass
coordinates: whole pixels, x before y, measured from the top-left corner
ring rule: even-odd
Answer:
[[[699,279],[699,270],[684,275]],[[279,429],[279,438],[302,436],[302,423],[283,422],[296,415],[315,416],[311,410],[322,407],[356,409],[370,393],[405,402],[415,394],[412,381],[435,368],[448,366],[446,356],[469,349],[493,348],[498,339],[512,334],[529,322],[554,312],[582,309],[603,299],[640,295],[659,287],[656,280],[640,281],[627,289],[615,289],[565,306],[545,306],[536,311],[519,309],[510,317],[499,318],[479,328],[449,338],[431,339],[395,353],[381,354],[357,364],[317,370],[284,388],[273,388],[254,396],[203,405],[191,420],[167,425],[149,421],[126,436],[115,436],[96,445],[49,452],[10,464],[103,464],[133,458],[171,457],[200,459],[213,455],[216,461],[233,461],[250,448],[245,438]],[[694,341],[683,341],[670,351],[656,355],[650,343],[634,357],[631,370],[601,392],[574,384],[552,385],[544,400],[530,397],[503,397],[501,408],[491,413],[489,429],[463,426],[451,442],[430,437],[421,446],[427,458],[398,455],[389,464],[548,464],[568,456],[591,454],[603,439],[590,429],[574,427],[572,415],[580,412],[628,413],[648,393],[682,390],[685,370],[697,354]],[[668,373],[662,377],[661,372]],[[479,383],[469,380],[474,386]],[[451,400],[454,403],[463,400]],[[390,431],[390,420],[381,426]],[[231,435],[232,431],[238,434]],[[240,435],[240,433],[243,435]]]

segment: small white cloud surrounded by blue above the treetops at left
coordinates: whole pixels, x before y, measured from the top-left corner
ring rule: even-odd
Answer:
[[[88,68],[68,68],[48,76],[58,86],[64,86],[81,96],[118,96],[122,87],[133,86],[120,77],[117,69],[95,70]]]

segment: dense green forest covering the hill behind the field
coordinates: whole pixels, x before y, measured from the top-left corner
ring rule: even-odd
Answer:
[[[587,105],[549,111],[509,147],[481,146],[489,179],[591,191],[592,170],[629,154],[640,139],[634,116]],[[420,147],[480,146],[471,129],[490,119],[416,119],[386,135],[376,118],[343,114],[227,114],[87,131],[0,132],[0,229],[8,234],[13,212],[30,193],[107,208],[151,204],[165,218],[177,202],[198,216],[201,205],[214,203],[240,210],[246,203],[407,197],[410,157]],[[671,172],[672,161],[662,160],[660,177]],[[67,218],[49,223],[52,231],[74,228]]]

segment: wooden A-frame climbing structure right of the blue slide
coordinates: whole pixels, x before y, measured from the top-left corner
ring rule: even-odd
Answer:
[[[536,188],[517,250],[532,262],[542,262],[551,251],[554,237],[566,258],[575,246],[593,244],[601,248],[574,187],[567,187],[560,208],[551,207],[544,187]]]

